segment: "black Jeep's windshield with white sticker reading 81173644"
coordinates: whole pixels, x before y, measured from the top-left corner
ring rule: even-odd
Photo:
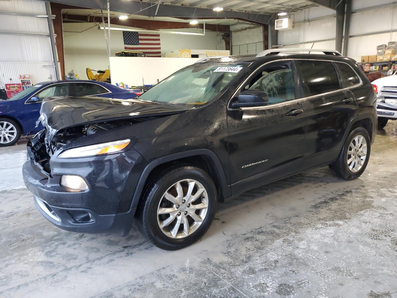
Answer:
[[[170,104],[204,104],[221,93],[247,64],[202,64],[179,70],[138,99]]]

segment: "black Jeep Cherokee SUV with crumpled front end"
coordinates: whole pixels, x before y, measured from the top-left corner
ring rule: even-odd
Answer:
[[[37,208],[76,232],[125,236],[135,219],[175,250],[206,232],[217,201],[308,168],[359,177],[376,132],[370,81],[336,52],[278,52],[196,63],[137,99],[45,99],[23,166]]]

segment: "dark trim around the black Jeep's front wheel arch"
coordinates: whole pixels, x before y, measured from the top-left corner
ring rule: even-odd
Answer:
[[[150,163],[148,163],[143,170],[141,176],[139,177],[137,187],[135,189],[134,195],[132,197],[131,201],[131,208],[135,208],[138,206],[138,203],[141,199],[141,195],[143,192],[143,188],[145,187],[146,181],[152,172],[152,170],[156,167],[159,166],[160,164],[168,163],[170,161],[175,161],[177,159],[185,158],[185,157],[193,157],[197,155],[206,155],[212,161],[214,165],[214,170],[216,171],[216,175],[218,176],[218,180],[220,182],[220,187],[222,189],[222,194],[224,197],[230,197],[231,196],[231,187],[229,184],[227,184],[227,179],[225,175],[224,168],[222,167],[222,164],[220,163],[220,160],[218,156],[214,153],[214,151],[210,149],[193,149],[193,150],[187,150],[187,151],[182,151],[178,153],[173,153],[170,155],[165,155],[162,157],[159,157],[157,159],[154,159]]]

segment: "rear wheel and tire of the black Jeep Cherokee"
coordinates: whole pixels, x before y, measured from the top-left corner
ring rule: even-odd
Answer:
[[[338,178],[354,180],[364,172],[371,153],[371,140],[368,132],[355,128],[347,136],[336,161],[330,164],[331,172]]]

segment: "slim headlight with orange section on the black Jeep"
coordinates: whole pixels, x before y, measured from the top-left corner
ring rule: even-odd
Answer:
[[[67,149],[62,152],[59,158],[85,157],[92,155],[110,154],[123,150],[130,143],[129,139],[122,141],[114,141],[108,143],[101,143],[83,147]]]

